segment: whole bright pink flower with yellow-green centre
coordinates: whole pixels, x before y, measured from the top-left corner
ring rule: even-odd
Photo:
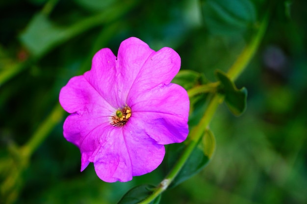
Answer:
[[[59,96],[71,113],[63,134],[80,149],[81,171],[93,162],[103,181],[130,181],[160,165],[165,144],[185,140],[189,98],[170,83],[179,68],[173,49],[155,52],[131,37],[117,58],[103,48],[90,71],[69,80]]]

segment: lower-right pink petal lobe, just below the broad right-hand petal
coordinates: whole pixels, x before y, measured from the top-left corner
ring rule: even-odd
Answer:
[[[135,128],[137,119],[129,121],[124,129],[124,137],[132,164],[132,176],[147,174],[156,169],[165,155],[164,145],[156,142],[146,133]]]

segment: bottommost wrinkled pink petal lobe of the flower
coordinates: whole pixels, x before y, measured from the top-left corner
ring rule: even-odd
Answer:
[[[108,127],[100,141],[100,148],[93,154],[97,176],[106,182],[132,180],[132,167],[123,128]]]

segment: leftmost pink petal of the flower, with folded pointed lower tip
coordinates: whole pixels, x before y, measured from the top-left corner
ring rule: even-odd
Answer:
[[[88,158],[98,147],[99,126],[110,125],[109,116],[115,109],[86,81],[83,76],[73,77],[60,91],[59,101],[69,113],[63,125],[64,137],[79,147],[81,171]]]

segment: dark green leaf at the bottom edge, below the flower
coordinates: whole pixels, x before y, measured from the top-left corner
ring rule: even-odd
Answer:
[[[117,204],[138,204],[153,193],[155,186],[143,184],[130,189]],[[150,204],[158,204],[161,195],[156,197]]]

